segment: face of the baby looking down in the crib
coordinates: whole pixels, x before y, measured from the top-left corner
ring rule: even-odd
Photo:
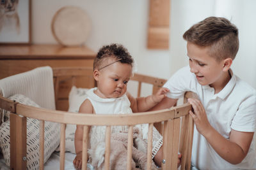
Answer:
[[[115,60],[109,59],[106,65],[111,62],[115,62]],[[121,97],[127,91],[127,83],[131,75],[132,66],[121,62],[115,62],[100,71],[95,70],[94,77],[98,85],[95,93],[102,98]]]

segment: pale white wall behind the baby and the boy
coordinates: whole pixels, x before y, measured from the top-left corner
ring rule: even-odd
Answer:
[[[138,64],[138,73],[169,78],[186,66],[184,31],[212,15],[232,18],[239,28],[240,50],[232,67],[243,80],[256,88],[256,1],[253,0],[172,0],[170,17],[170,50],[147,49],[147,0],[33,0],[33,43],[57,43],[51,33],[51,20],[61,7],[83,8],[92,19],[92,32],[86,45],[95,52],[102,45],[122,43]]]

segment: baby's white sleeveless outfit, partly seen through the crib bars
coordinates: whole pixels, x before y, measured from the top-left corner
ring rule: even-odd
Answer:
[[[108,98],[102,99],[97,96],[93,91],[97,90],[97,87],[88,90],[86,93],[88,95],[88,100],[92,103],[95,114],[131,114],[131,103],[126,94],[118,98]],[[148,124],[136,125],[139,127],[141,138],[147,141]],[[127,131],[127,126],[112,126],[111,132],[124,132]],[[99,143],[100,141],[105,141],[105,131],[106,127],[92,127],[90,132],[90,145]],[[152,141],[152,157],[156,155],[159,148],[163,145],[163,137],[156,128],[153,129],[153,141]]]

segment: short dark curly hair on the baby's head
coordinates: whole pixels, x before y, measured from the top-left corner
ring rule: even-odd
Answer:
[[[134,62],[132,56],[124,46],[111,44],[100,48],[93,62],[93,70],[103,67],[104,63],[109,58],[116,59],[121,63],[130,64],[131,66],[133,66],[132,64]]]

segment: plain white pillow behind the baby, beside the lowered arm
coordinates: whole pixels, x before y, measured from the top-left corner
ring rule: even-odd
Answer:
[[[79,107],[87,97],[86,92],[88,90],[89,89],[76,88],[76,86],[72,87],[68,95],[68,104],[69,104],[68,111],[69,112],[77,113],[79,111]],[[76,125],[67,124],[66,133],[65,133],[66,152],[76,153],[75,144],[74,144],[75,132],[76,132]]]

